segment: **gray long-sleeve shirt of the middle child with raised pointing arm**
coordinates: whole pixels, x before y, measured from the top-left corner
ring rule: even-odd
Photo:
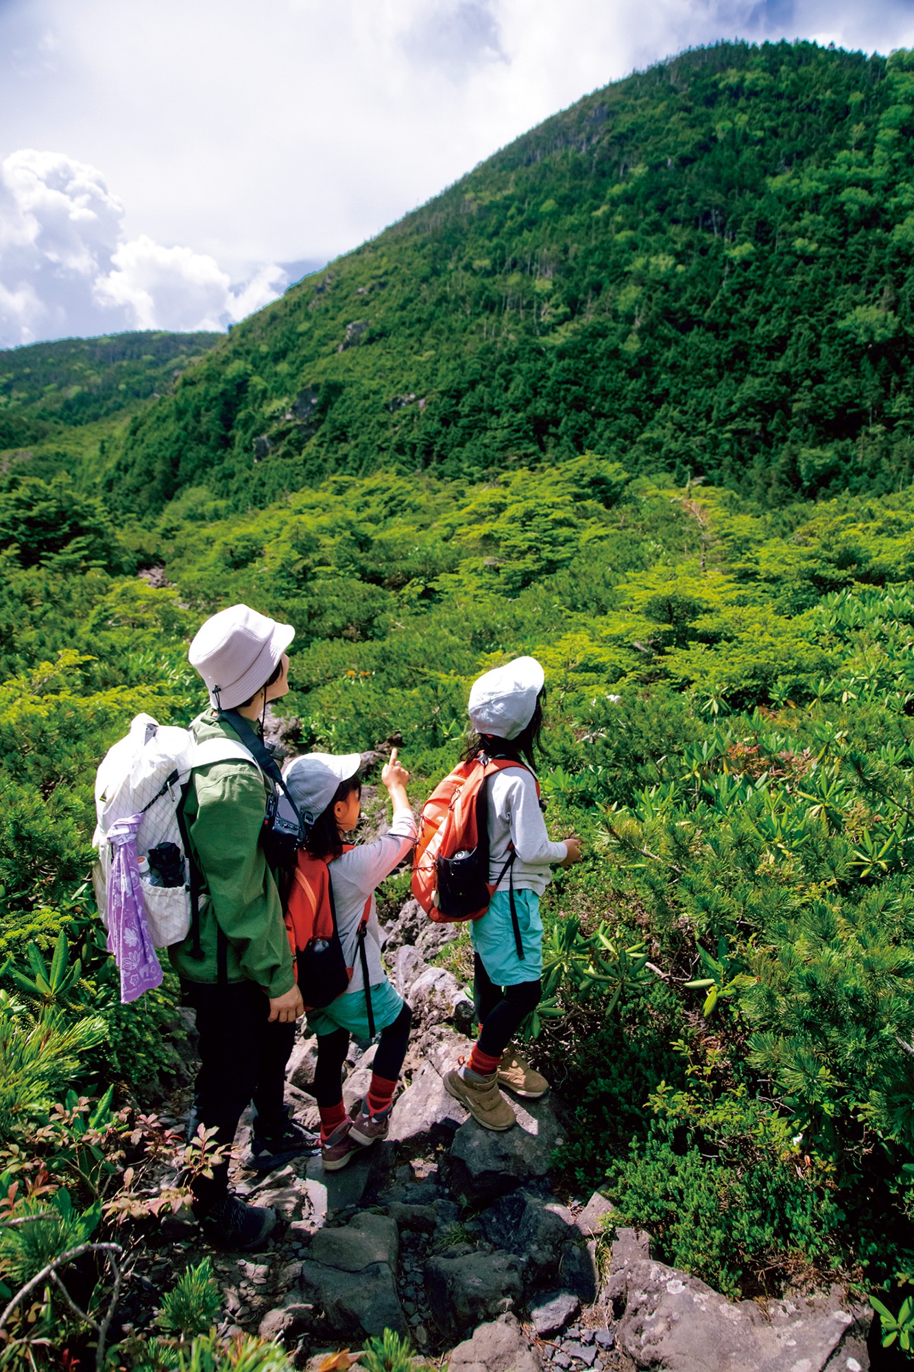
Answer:
[[[384,877],[390,877],[394,867],[403,860],[409,849],[416,842],[416,820],[412,809],[395,809],[390,829],[373,844],[358,844],[340,858],[335,858],[329,864],[329,878],[333,885],[333,904],[336,907],[336,927],[339,941],[343,945],[346,966],[353,969],[353,980],[346,995],[361,991],[365,985],[362,977],[361,959],[358,956],[358,926],[365,910],[365,901],[371,899],[372,908],[368,916],[368,933],[365,938],[365,959],[368,962],[368,981],[375,986],[384,980],[384,969],[380,960],[380,929],[377,927],[377,911],[375,908],[375,888]]]

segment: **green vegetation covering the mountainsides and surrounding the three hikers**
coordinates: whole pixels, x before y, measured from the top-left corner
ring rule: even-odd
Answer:
[[[298,746],[397,745],[417,800],[472,679],[542,661],[549,825],[586,849],[543,901],[531,1025],[572,1103],[559,1179],[726,1295],[837,1281],[898,1312],[911,134],[914,54],[720,44],[548,121],[226,338],[0,357],[0,1301],[161,1222],[177,984],[119,1004],[92,786],[134,713],[203,708],[188,641],[244,601],[295,626]],[[84,1372],[104,1339],[111,1369],[291,1367],[254,1340],[225,1361],[178,1297],[151,1338],[129,1302],[140,1332],[108,1327],[92,1261],[88,1318],[38,1283],[0,1368],[75,1349]]]

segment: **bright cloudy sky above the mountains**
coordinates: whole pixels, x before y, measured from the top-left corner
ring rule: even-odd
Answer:
[[[0,346],[224,327],[582,95],[914,0],[0,0]]]

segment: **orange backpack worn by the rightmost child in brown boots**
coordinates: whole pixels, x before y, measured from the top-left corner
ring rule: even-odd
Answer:
[[[489,910],[495,886],[515,862],[512,849],[495,882],[489,881],[489,778],[505,767],[523,767],[515,757],[484,753],[458,763],[423,807],[419,841],[413,859],[413,896],[436,923],[480,919]],[[535,779],[535,778],[534,778]],[[537,782],[539,794],[539,782]],[[511,882],[511,914],[519,956],[523,958]]]

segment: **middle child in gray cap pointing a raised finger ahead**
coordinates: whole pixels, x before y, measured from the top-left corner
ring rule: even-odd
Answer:
[[[409,1006],[384,975],[375,910],[375,888],[416,841],[416,820],[406,797],[409,772],[397,761],[394,749],[382,771],[394,808],[390,829],[373,844],[349,847],[343,836],[355,829],[361,811],[360,763],[358,753],[309,753],[285,770],[285,785],[309,826],[299,873],[307,868],[309,858],[312,864],[313,859],[328,863],[343,960],[351,969],[342,995],[320,1010],[307,1010],[309,1029],[317,1034],[313,1089],[321,1117],[321,1159],[328,1172],[344,1168],[353,1154],[387,1136],[412,1021]],[[368,1095],[346,1114],[342,1069],[350,1034],[365,1041],[376,1030],[380,1043]]]

